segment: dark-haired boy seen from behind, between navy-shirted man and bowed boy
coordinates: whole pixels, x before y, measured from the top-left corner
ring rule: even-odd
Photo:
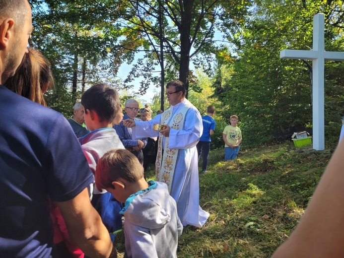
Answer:
[[[105,152],[113,148],[124,149],[116,130],[112,128],[122,121],[122,107],[117,91],[104,83],[86,90],[81,97],[81,104],[85,109],[85,124],[91,132],[79,138],[79,141],[94,175],[97,162]],[[109,233],[122,229],[122,216],[119,214],[122,203],[112,194],[97,189],[94,184],[90,188],[91,203]],[[115,236],[111,236],[114,240]]]

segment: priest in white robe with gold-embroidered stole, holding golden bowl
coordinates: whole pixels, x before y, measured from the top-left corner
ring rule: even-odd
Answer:
[[[198,156],[196,144],[203,131],[200,112],[185,98],[181,81],[166,85],[171,107],[150,121],[127,119],[123,124],[133,128],[135,137],[159,136],[155,169],[156,180],[167,184],[177,202],[178,216],[183,224],[202,227],[209,217],[199,205]],[[154,124],[166,129],[154,130]]]

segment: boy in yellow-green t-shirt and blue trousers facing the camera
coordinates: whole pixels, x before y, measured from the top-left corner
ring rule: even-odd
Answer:
[[[236,125],[238,124],[238,117],[230,117],[230,126],[226,126],[222,133],[224,140],[224,160],[233,160],[237,157],[242,140],[241,130]]]

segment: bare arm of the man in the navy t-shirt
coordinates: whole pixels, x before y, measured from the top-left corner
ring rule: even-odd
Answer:
[[[54,203],[60,208],[71,240],[86,256],[117,258],[109,233],[89,200],[87,188],[68,201]]]

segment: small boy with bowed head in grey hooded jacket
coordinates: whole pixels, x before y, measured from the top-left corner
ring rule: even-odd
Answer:
[[[105,189],[125,207],[124,234],[128,258],[176,258],[183,225],[176,201],[167,185],[148,181],[143,167],[129,150],[112,149],[99,160],[96,186]]]

